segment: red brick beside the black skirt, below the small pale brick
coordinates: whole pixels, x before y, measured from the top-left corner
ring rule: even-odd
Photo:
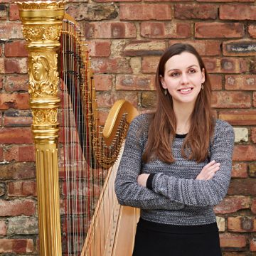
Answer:
[[[235,249],[242,248],[246,246],[245,235],[233,235],[233,234],[220,234],[220,247],[224,249]]]

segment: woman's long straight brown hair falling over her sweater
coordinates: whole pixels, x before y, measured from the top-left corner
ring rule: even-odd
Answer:
[[[144,162],[160,159],[167,163],[175,161],[171,151],[172,142],[176,136],[176,117],[171,95],[164,95],[161,86],[161,77],[164,77],[165,64],[169,58],[183,52],[192,53],[198,59],[201,71],[205,70],[203,90],[199,92],[196,104],[191,114],[191,127],[181,148],[185,159],[196,160],[198,163],[208,157],[210,138],[213,136],[214,119],[210,108],[211,85],[206,67],[201,56],[189,44],[176,43],[169,47],[159,60],[156,71],[156,112],[151,117],[149,124],[148,142],[143,154]]]

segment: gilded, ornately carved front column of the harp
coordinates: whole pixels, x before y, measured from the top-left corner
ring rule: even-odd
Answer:
[[[40,254],[61,255],[58,181],[58,39],[65,1],[18,2],[28,48],[32,132],[36,146]]]

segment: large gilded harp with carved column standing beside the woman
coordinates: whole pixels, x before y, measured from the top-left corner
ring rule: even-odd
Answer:
[[[65,2],[17,3],[28,48],[40,254],[129,256],[139,213],[119,206],[113,186],[138,112],[119,100],[101,127],[89,50]]]

